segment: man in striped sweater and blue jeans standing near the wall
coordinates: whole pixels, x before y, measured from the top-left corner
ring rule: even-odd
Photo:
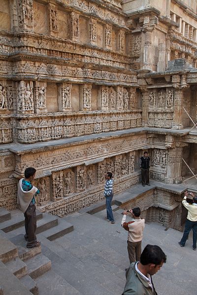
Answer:
[[[114,180],[112,179],[112,173],[111,172],[107,172],[105,174],[105,187],[104,187],[104,197],[106,199],[106,209],[107,209],[107,217],[105,217],[105,219],[108,219],[110,223],[115,223],[114,221],[114,216],[113,216],[113,212],[112,212],[112,208],[111,208],[111,202],[113,199],[113,183]]]

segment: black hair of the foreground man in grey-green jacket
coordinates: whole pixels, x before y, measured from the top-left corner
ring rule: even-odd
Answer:
[[[146,245],[140,256],[140,263],[146,266],[149,263],[160,265],[162,262],[166,262],[166,255],[162,249],[157,245]]]

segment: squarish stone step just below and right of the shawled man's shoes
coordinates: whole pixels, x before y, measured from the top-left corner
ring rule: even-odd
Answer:
[[[26,261],[28,274],[35,279],[51,269],[51,261],[41,253]]]

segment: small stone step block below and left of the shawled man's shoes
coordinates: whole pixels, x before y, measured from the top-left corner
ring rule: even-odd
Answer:
[[[28,273],[27,265],[19,257],[16,257],[14,260],[6,262],[5,266],[18,279],[22,278],[24,275]]]

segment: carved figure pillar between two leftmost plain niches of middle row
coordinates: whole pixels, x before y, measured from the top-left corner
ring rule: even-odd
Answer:
[[[62,83],[58,89],[59,111],[71,112],[71,89],[72,84]]]

